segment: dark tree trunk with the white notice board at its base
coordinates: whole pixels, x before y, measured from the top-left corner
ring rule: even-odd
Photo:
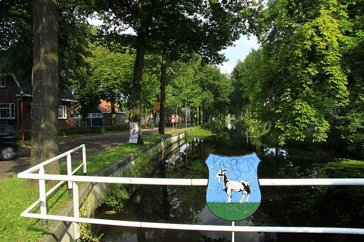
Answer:
[[[143,33],[139,32],[136,37],[138,47],[136,48],[136,58],[134,64],[134,78],[133,78],[133,121],[137,122],[139,127],[138,144],[144,144],[142,137],[142,83],[143,83],[143,68],[144,68],[144,55],[145,55],[145,37]]]

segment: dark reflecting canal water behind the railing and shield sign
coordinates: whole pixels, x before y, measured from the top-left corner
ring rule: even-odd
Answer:
[[[294,147],[275,149],[247,145],[244,132],[223,128],[217,135],[194,138],[166,157],[152,177],[208,178],[204,163],[209,153],[243,155],[256,152],[261,159],[259,178],[345,178],[357,177],[355,170],[330,172],[324,167],[337,155],[327,150]],[[341,175],[341,177],[338,177]],[[265,186],[258,210],[249,218],[235,222],[246,226],[312,226],[364,228],[364,188],[362,186]],[[101,206],[96,218],[130,221],[231,225],[213,215],[206,206],[206,187],[140,186],[126,202],[122,213]],[[231,241],[231,232],[125,228],[94,225],[103,234],[101,241]],[[363,235],[310,233],[237,232],[235,241],[364,241]]]

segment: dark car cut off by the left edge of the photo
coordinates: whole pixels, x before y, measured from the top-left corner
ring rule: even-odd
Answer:
[[[10,125],[0,124],[0,160],[11,160],[18,150],[18,136]]]

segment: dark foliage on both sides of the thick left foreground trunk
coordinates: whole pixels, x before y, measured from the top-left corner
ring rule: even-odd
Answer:
[[[57,1],[59,8],[60,86],[79,80],[87,65],[92,28],[84,17],[81,1]],[[33,7],[31,1],[0,2],[0,72],[30,83],[33,64]],[[60,88],[61,90],[62,88]]]

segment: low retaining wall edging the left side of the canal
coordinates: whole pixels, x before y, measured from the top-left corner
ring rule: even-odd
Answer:
[[[120,177],[125,173],[130,173],[130,169],[134,166],[135,159],[141,154],[149,154],[151,157],[163,157],[176,149],[185,142],[185,133],[167,135],[161,140],[147,145],[142,151],[127,155],[117,162],[114,162],[109,167],[96,172],[95,176],[113,176]],[[79,187],[80,211],[82,217],[90,217],[93,211],[102,203],[103,199],[109,193],[106,184],[101,183],[86,183]],[[73,216],[72,201],[69,201],[66,206],[57,212],[57,215]],[[70,222],[50,221],[49,230],[45,233],[44,241],[74,241],[73,226]]]

